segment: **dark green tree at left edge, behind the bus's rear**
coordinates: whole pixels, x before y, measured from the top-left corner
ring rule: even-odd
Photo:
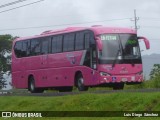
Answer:
[[[6,86],[3,74],[11,71],[11,64],[8,61],[11,61],[12,40],[15,38],[9,34],[0,35],[0,89]]]

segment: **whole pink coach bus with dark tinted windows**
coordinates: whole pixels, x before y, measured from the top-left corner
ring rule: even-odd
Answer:
[[[127,28],[69,27],[17,38],[12,47],[12,84],[32,93],[139,84],[143,70],[138,40],[149,49],[145,37]]]

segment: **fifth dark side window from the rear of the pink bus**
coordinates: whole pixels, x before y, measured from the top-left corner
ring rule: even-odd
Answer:
[[[62,52],[62,38],[61,35],[52,38],[52,53]]]

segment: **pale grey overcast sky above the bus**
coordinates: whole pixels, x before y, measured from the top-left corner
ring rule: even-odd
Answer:
[[[1,6],[14,1],[18,0],[0,0],[0,35],[32,36],[46,30],[69,26],[134,28],[136,9],[139,17],[138,35],[147,37],[151,44],[151,49],[142,53],[160,54],[160,0],[44,0],[3,12],[40,0],[26,0],[8,7]],[[143,43],[140,43],[144,49]]]

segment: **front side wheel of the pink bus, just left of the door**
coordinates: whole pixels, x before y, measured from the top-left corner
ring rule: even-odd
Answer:
[[[79,91],[87,91],[88,87],[84,85],[84,78],[81,73],[76,77],[76,87]]]

